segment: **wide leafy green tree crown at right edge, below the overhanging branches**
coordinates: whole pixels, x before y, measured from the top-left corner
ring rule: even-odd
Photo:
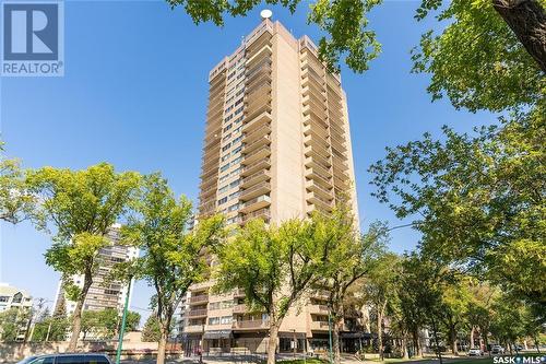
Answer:
[[[544,313],[546,120],[541,109],[475,136],[447,127],[444,140],[426,133],[389,148],[369,171],[373,196],[399,218],[414,219],[424,255],[471,268],[477,277],[485,273]]]

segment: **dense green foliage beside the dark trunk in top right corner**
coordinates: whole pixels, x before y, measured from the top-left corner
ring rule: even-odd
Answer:
[[[432,99],[447,95],[472,111],[524,109],[544,97],[544,75],[490,0],[423,0],[416,17],[437,13],[413,50],[414,72],[431,74]],[[437,9],[440,9],[437,11]]]

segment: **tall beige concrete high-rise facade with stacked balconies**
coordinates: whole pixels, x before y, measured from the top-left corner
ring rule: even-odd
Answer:
[[[319,61],[317,46],[263,20],[209,75],[199,215],[224,213],[244,225],[277,224],[329,213],[348,197],[358,227],[345,93]],[[211,294],[195,284],[186,301],[186,352],[246,348],[264,352],[268,317],[251,314],[240,291]],[[344,331],[357,329],[347,317]],[[280,330],[280,351],[328,347],[325,296],[293,308]]]

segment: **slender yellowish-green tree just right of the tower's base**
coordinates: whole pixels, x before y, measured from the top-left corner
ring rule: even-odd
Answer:
[[[387,253],[373,262],[364,280],[365,297],[375,312],[378,350],[381,360],[383,360],[383,319],[388,305],[397,291],[399,268],[401,268],[399,256]]]

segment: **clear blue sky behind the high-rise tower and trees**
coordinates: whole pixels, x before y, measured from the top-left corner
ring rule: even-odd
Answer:
[[[417,1],[387,1],[370,15],[382,43],[370,71],[342,69],[348,97],[356,184],[363,226],[373,220],[401,224],[370,197],[367,167],[384,146],[438,134],[442,125],[460,131],[495,116],[455,110],[430,102],[427,75],[411,74],[410,50],[435,25],[413,19]],[[1,130],[8,154],[26,167],[84,168],[107,161],[119,171],[161,171],[177,193],[198,195],[207,73],[259,24],[258,8],[227,19],[223,28],[195,26],[182,9],[164,1],[67,1],[63,78],[1,79]],[[306,24],[307,2],[290,15],[273,9],[297,37],[320,33]],[[0,282],[54,300],[59,274],[44,262],[50,238],[28,224],[1,225]],[[391,249],[412,249],[418,235],[392,233]],[[139,282],[133,309],[146,308],[151,290]],[[141,310],[146,315],[145,310]]]

